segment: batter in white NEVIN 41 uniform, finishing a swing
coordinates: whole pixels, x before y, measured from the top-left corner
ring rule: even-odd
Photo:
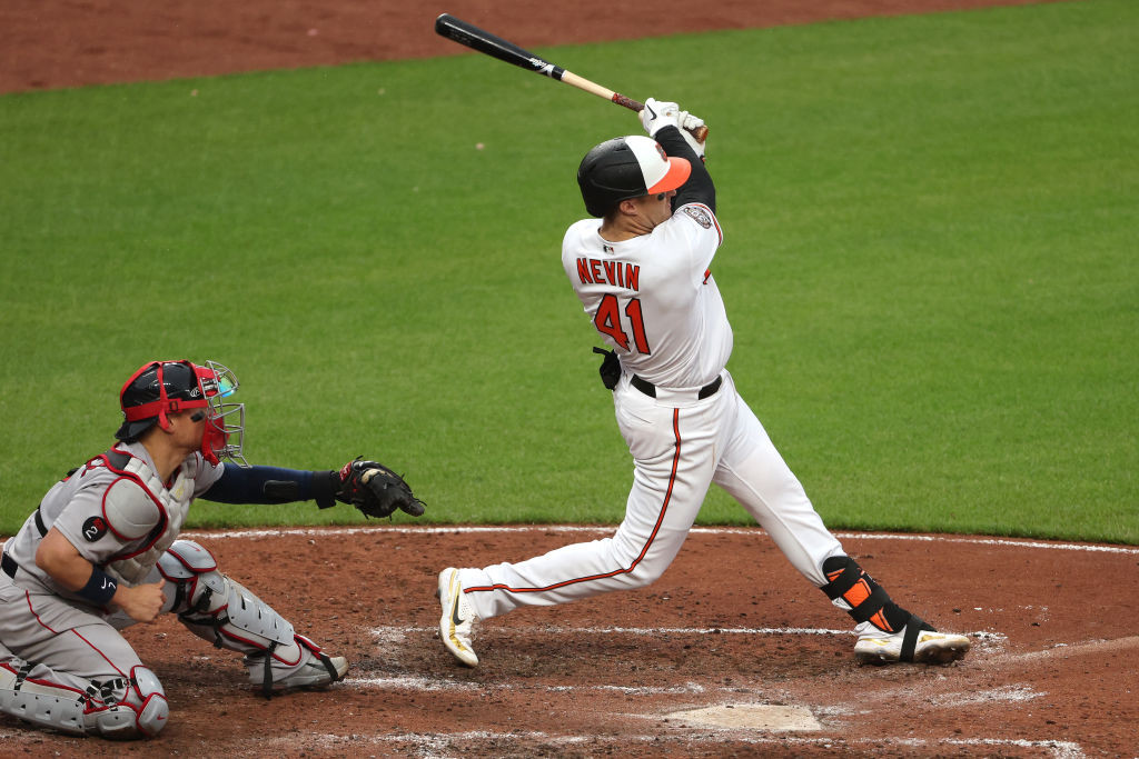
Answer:
[[[550,605],[644,587],[672,562],[713,482],[768,531],[792,564],[850,613],[860,661],[945,663],[969,640],[937,633],[894,603],[843,552],[726,365],[732,332],[711,266],[723,240],[704,122],[649,99],[649,137],[590,150],[577,170],[587,211],[562,264],[612,350],[601,365],[634,462],[625,517],[612,538],[519,563],[448,568],[439,576],[440,635],[474,667],[474,625],[521,605]],[[653,139],[655,138],[655,139]]]

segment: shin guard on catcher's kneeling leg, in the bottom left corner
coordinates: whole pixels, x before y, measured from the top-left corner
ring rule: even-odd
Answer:
[[[154,737],[166,726],[170,706],[162,683],[146,667],[129,678],[92,682],[85,691],[51,678],[43,665],[0,665],[0,711],[72,735],[129,740]]]

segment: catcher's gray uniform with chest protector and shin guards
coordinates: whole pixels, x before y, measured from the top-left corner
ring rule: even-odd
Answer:
[[[313,663],[314,676],[323,675],[327,657],[318,646],[220,574],[207,551],[177,541],[190,503],[223,468],[194,453],[162,482],[142,444],[120,443],[48,492],[3,546],[0,711],[110,737],[155,735],[169,713],[157,677],[118,632],[133,620],[92,605],[36,566],[51,529],[114,581],[163,580],[163,611],[178,613],[195,635],[247,654],[252,682],[267,690],[306,684]]]

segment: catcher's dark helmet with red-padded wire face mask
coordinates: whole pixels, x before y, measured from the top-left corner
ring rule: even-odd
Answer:
[[[169,414],[202,409],[205,460],[218,464],[226,457],[247,467],[241,455],[245,404],[226,401],[237,387],[233,372],[213,361],[204,366],[189,361],[151,361],[131,374],[118,393],[124,419],[115,437],[133,443],[155,424],[170,429]]]

